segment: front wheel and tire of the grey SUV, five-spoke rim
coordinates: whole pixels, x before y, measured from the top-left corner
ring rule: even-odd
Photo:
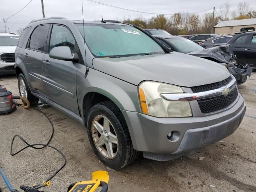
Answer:
[[[87,122],[92,149],[106,166],[119,170],[138,157],[139,152],[132,146],[124,117],[113,102],[93,106]]]

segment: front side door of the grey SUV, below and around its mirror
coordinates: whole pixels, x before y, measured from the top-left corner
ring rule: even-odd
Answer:
[[[79,114],[76,97],[76,70],[78,63],[49,57],[54,47],[68,46],[72,53],[79,48],[72,32],[63,25],[52,25],[46,54],[43,58],[44,95],[60,106]]]

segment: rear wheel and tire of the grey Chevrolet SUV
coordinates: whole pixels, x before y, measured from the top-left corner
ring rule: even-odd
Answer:
[[[31,94],[27,80],[22,73],[18,76],[18,88],[19,88],[20,96],[27,98],[28,101],[30,102],[30,106],[38,104],[39,99]]]

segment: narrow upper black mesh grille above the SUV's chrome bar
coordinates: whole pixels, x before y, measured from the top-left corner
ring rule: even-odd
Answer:
[[[214,90],[214,89],[218,89],[220,87],[225,86],[226,84],[228,84],[230,81],[232,80],[232,77],[229,76],[228,78],[220,81],[220,82],[216,82],[216,83],[211,83],[211,84],[207,84],[207,85],[200,85],[200,86],[195,86],[195,87],[191,87],[191,90],[193,91],[193,93],[198,93],[198,92],[202,92],[202,91],[208,91],[208,90]]]

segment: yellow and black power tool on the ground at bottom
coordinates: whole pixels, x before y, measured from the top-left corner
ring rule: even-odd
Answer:
[[[94,192],[99,187],[102,187],[100,192],[108,191],[108,172],[106,171],[95,171],[92,173],[91,181],[81,181],[72,183],[68,187],[68,192]]]

